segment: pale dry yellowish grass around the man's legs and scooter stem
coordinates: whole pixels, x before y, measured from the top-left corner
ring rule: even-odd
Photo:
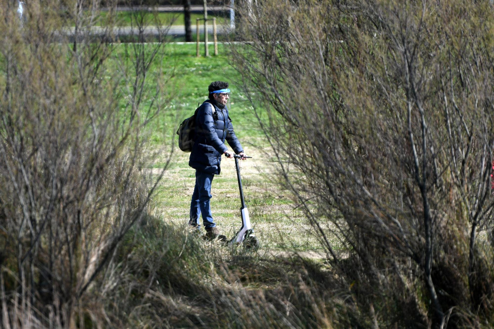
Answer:
[[[236,130],[242,135],[242,128]],[[240,139],[244,145],[249,141],[246,137]],[[182,225],[189,220],[195,170],[188,166],[190,153],[176,150],[172,169],[165,172],[151,206],[166,222]],[[265,151],[250,145],[245,150],[252,159],[241,162],[244,195],[251,224],[262,243],[261,248],[320,250],[320,244],[303,212],[295,208],[289,192],[280,189],[273,164],[265,160]],[[160,168],[149,170],[153,174],[161,172]],[[233,237],[241,225],[239,188],[233,160],[222,159],[221,174],[213,179],[211,195],[211,210],[216,224],[229,238]]]

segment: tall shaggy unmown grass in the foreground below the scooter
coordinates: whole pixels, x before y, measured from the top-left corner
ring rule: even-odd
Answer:
[[[356,318],[340,316],[352,305],[334,298],[323,261],[225,247],[151,216],[127,234],[114,262],[120,274],[103,283],[120,278],[105,302],[112,323],[173,328],[357,324]]]

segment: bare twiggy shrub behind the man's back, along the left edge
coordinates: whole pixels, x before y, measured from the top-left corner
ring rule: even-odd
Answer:
[[[166,101],[165,73],[150,71],[162,44],[107,43],[112,13],[93,38],[97,8],[29,1],[22,26],[16,6],[0,8],[3,328],[104,322],[88,296],[157,184],[143,166],[146,126]]]

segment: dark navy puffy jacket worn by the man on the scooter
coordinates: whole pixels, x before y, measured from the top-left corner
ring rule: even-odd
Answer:
[[[211,106],[214,106],[214,115]],[[216,101],[206,100],[197,110],[196,133],[189,165],[208,173],[219,174],[221,156],[228,150],[225,140],[236,154],[243,152],[233,131],[228,108],[225,106],[221,109]]]

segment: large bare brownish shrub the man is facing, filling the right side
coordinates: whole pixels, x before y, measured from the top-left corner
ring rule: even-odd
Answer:
[[[376,326],[492,319],[492,4],[245,2],[236,67],[344,287]]]

